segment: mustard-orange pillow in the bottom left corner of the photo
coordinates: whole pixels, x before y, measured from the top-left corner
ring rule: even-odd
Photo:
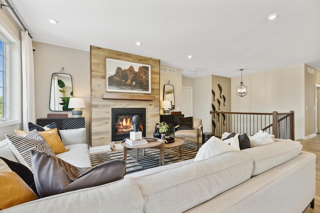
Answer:
[[[33,190],[0,160],[0,209],[28,202],[38,197]]]

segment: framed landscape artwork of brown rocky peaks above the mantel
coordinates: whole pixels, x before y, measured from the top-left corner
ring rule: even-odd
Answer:
[[[151,66],[105,58],[106,91],[151,93]]]

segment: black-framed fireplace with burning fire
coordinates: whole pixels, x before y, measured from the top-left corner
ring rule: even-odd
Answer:
[[[130,136],[133,130],[132,116],[139,115],[142,136],[145,137],[145,108],[111,108],[111,141]]]

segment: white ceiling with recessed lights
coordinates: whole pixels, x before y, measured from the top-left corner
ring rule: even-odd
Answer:
[[[320,69],[320,0],[10,3],[34,41],[85,51],[94,45],[157,58],[161,65],[181,68],[187,77],[235,77],[240,68],[246,75],[298,63]],[[268,20],[272,13],[277,18]]]

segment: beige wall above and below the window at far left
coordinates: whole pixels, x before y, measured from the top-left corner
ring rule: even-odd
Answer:
[[[21,41],[21,29],[16,24],[12,16],[7,11],[7,7],[3,6],[2,9],[0,9],[0,24],[13,36],[16,37],[19,41]],[[21,61],[17,61],[19,64],[19,67],[21,67]],[[20,68],[21,70],[21,68]],[[15,76],[18,77],[18,76]],[[21,103],[21,111],[22,114],[22,103]],[[22,117],[21,117],[22,120]],[[5,133],[11,133],[14,134],[13,129],[21,129],[22,123],[17,123],[14,125],[4,126],[0,128],[0,140],[5,138]]]

